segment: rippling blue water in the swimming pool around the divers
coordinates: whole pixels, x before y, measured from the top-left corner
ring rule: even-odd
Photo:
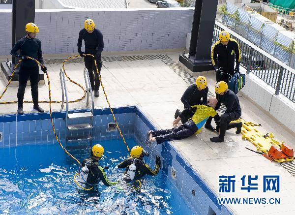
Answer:
[[[128,139],[129,147],[135,145]],[[120,161],[127,158],[121,140],[101,141],[105,148],[100,165],[110,181],[123,174]],[[72,154],[83,161],[89,150]],[[154,156],[146,162],[154,168]],[[177,188],[160,170],[155,177],[145,176],[140,191],[118,190],[99,185],[99,192],[78,190],[73,175],[79,165],[58,144],[25,145],[0,149],[0,214],[181,214],[192,215]]]

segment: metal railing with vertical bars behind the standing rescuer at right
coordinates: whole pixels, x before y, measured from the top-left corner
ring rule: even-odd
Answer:
[[[275,94],[282,93],[295,103],[295,69],[269,55],[217,21],[213,31],[212,44],[218,40],[219,33],[223,30],[229,31],[231,37],[239,43],[241,50],[240,66],[247,70],[247,74],[253,73],[275,89]]]

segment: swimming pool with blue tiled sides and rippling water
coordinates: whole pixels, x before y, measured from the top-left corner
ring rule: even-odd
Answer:
[[[152,168],[155,155],[161,156],[157,176],[145,176],[140,191],[104,185],[100,192],[78,190],[73,175],[79,166],[57,144],[49,114],[4,115],[0,116],[0,214],[232,214],[218,204],[217,195],[173,145],[144,144],[146,132],[155,127],[136,106],[113,111],[130,148],[143,144],[151,154],[146,162]],[[63,142],[65,112],[53,116]],[[128,154],[118,131],[108,129],[112,122],[109,109],[94,110],[93,144],[105,147],[100,164],[110,167],[107,176],[115,181],[123,173],[116,166]],[[89,150],[71,153],[80,161],[89,156]]]

